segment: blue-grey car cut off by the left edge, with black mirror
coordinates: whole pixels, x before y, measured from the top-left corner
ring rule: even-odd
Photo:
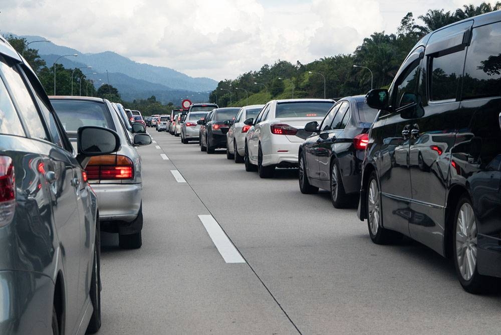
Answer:
[[[2,36],[0,75],[0,333],[95,333],[99,210],[84,168],[120,139],[80,127],[74,150],[36,74]]]

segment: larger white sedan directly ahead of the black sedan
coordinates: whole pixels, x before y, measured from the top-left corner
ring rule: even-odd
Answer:
[[[250,118],[244,121],[252,124],[245,135],[245,170],[257,169],[260,177],[270,178],[275,167],[297,167],[299,145],[311,135],[305,124],[320,123],[334,103],[332,99],[268,102],[252,123]]]

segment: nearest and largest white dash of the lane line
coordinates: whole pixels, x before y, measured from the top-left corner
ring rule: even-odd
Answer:
[[[198,218],[202,221],[205,230],[207,230],[212,242],[214,242],[214,245],[226,263],[245,263],[245,259],[240,255],[240,252],[231,243],[212,215],[198,215]]]

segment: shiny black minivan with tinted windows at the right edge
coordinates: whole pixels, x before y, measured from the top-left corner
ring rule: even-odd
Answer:
[[[371,239],[410,236],[487,290],[501,277],[501,12],[426,35],[366,98],[380,109],[358,208]]]

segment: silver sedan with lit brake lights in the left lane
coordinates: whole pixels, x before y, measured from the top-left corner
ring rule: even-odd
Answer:
[[[118,232],[122,248],[142,244],[142,169],[136,146],[151,143],[146,133],[135,133],[131,142],[125,125],[111,103],[97,97],[51,97],[51,102],[74,145],[78,128],[98,125],[116,131],[122,145],[114,154],[92,157],[86,167],[88,182],[99,200],[101,230]],[[144,131],[140,123],[132,125]]]

